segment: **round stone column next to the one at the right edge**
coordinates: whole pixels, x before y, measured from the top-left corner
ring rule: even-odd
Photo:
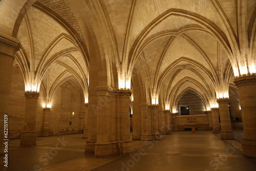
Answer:
[[[229,114],[229,99],[221,98],[217,99],[219,103],[220,119],[221,119],[221,139],[231,140],[234,139],[234,133],[231,129],[231,120]]]

